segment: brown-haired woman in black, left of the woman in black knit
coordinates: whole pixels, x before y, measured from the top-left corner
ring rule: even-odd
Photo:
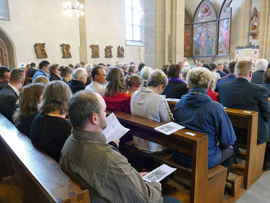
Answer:
[[[43,83],[35,83],[24,86],[19,95],[19,108],[13,114],[13,121],[17,129],[30,137],[31,125],[38,115],[37,105],[42,99],[45,89]]]

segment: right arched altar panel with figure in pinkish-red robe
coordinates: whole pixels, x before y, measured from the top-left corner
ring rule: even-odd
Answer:
[[[231,40],[231,4],[232,0],[224,0],[218,15],[217,55],[228,55]]]

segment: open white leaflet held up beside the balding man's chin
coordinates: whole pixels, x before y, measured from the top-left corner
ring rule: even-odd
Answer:
[[[114,113],[111,113],[107,117],[107,127],[102,131],[102,134],[105,135],[108,144],[112,140],[120,139],[128,131],[129,129],[120,124]]]

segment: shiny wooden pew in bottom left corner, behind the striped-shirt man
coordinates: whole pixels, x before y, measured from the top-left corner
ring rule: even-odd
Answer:
[[[0,114],[0,138],[8,149],[25,202],[89,203],[89,190]],[[43,194],[42,194],[42,193]]]

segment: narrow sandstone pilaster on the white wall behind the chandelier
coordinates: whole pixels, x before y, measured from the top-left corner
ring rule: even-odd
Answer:
[[[79,0],[79,3],[84,5],[84,0]],[[80,40],[81,40],[81,46],[79,47],[80,61],[84,62],[84,64],[87,64],[85,15],[83,16],[81,15],[79,17],[79,26],[80,26]]]

